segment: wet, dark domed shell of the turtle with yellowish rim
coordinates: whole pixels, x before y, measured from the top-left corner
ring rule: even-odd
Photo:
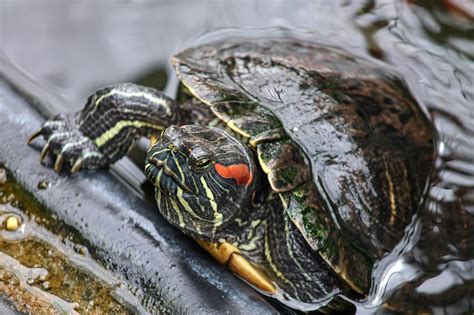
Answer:
[[[295,38],[216,41],[173,64],[191,93],[249,139],[310,246],[366,292],[432,164],[431,126],[403,82],[375,62]]]

